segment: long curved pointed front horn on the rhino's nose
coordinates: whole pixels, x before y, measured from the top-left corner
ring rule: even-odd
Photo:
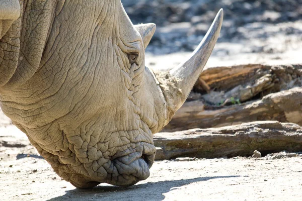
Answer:
[[[173,82],[174,90],[173,93],[172,91],[165,91],[164,95],[169,107],[174,112],[177,111],[187,99],[196,80],[200,76],[203,67],[210,57],[220,33],[222,19],[223,10],[220,9],[210,29],[190,58],[169,71],[169,81]],[[170,90],[173,87],[170,86]],[[175,87],[177,87],[177,89]]]

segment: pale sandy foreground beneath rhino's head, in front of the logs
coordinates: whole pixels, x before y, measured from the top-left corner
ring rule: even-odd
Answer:
[[[157,161],[132,187],[73,187],[14,126],[0,129],[0,200],[301,200],[302,157]],[[5,143],[4,143],[5,142]]]

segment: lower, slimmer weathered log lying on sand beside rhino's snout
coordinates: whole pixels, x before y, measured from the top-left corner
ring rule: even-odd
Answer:
[[[217,158],[252,156],[279,151],[302,151],[302,127],[292,123],[259,121],[210,129],[192,129],[154,136],[156,160],[177,157]]]

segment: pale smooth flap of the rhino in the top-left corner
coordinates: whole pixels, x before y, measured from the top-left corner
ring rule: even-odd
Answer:
[[[20,17],[19,0],[0,0],[0,39]]]

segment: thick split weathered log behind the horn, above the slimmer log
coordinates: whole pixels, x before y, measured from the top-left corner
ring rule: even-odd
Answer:
[[[237,125],[251,121],[302,125],[302,65],[241,65],[205,70],[164,132]]]

